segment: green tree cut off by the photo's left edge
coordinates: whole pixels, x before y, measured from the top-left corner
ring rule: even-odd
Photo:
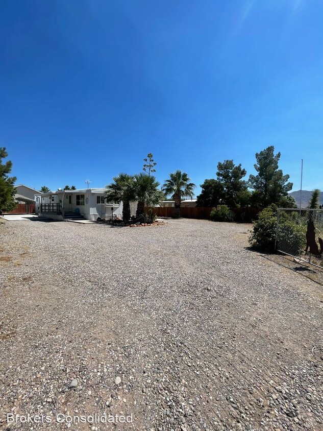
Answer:
[[[3,163],[2,159],[8,157],[6,148],[0,147],[0,211],[12,209],[14,202],[16,177],[9,177],[12,170],[12,162],[7,160]],[[14,205],[15,206],[15,205]]]

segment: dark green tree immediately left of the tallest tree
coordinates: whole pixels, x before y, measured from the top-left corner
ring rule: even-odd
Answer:
[[[238,194],[241,190],[246,190],[246,182],[242,180],[246,170],[242,169],[241,163],[235,165],[233,160],[218,162],[216,177],[223,186],[223,202],[229,207],[238,205]]]

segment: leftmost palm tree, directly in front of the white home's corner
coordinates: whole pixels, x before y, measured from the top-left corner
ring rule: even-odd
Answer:
[[[113,181],[106,186],[106,198],[111,202],[123,202],[122,219],[127,223],[131,218],[130,201],[136,199],[133,177],[121,173],[117,177],[113,177]]]

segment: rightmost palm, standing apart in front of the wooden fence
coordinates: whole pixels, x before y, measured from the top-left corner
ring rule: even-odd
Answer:
[[[193,190],[196,185],[189,181],[188,175],[179,169],[169,174],[169,179],[165,180],[162,190],[166,196],[170,196],[175,201],[174,217],[181,217],[182,198],[193,199]]]

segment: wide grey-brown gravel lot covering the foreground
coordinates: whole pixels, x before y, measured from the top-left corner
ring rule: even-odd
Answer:
[[[247,229],[0,225],[0,429],[323,429],[322,286]]]

